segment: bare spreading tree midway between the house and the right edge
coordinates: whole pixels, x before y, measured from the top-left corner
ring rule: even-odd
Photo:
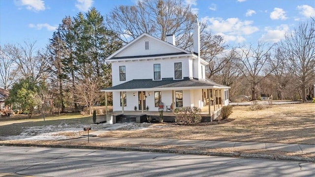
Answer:
[[[239,58],[240,62],[236,63],[236,66],[242,71],[246,79],[251,84],[252,90],[252,100],[256,100],[256,89],[258,83],[261,82],[269,73],[272,72],[271,69],[266,70],[264,76],[263,74],[264,67],[266,62],[270,61],[270,50],[273,45],[267,46],[266,43],[258,42],[257,47],[254,48],[252,44],[249,48],[240,46]]]

